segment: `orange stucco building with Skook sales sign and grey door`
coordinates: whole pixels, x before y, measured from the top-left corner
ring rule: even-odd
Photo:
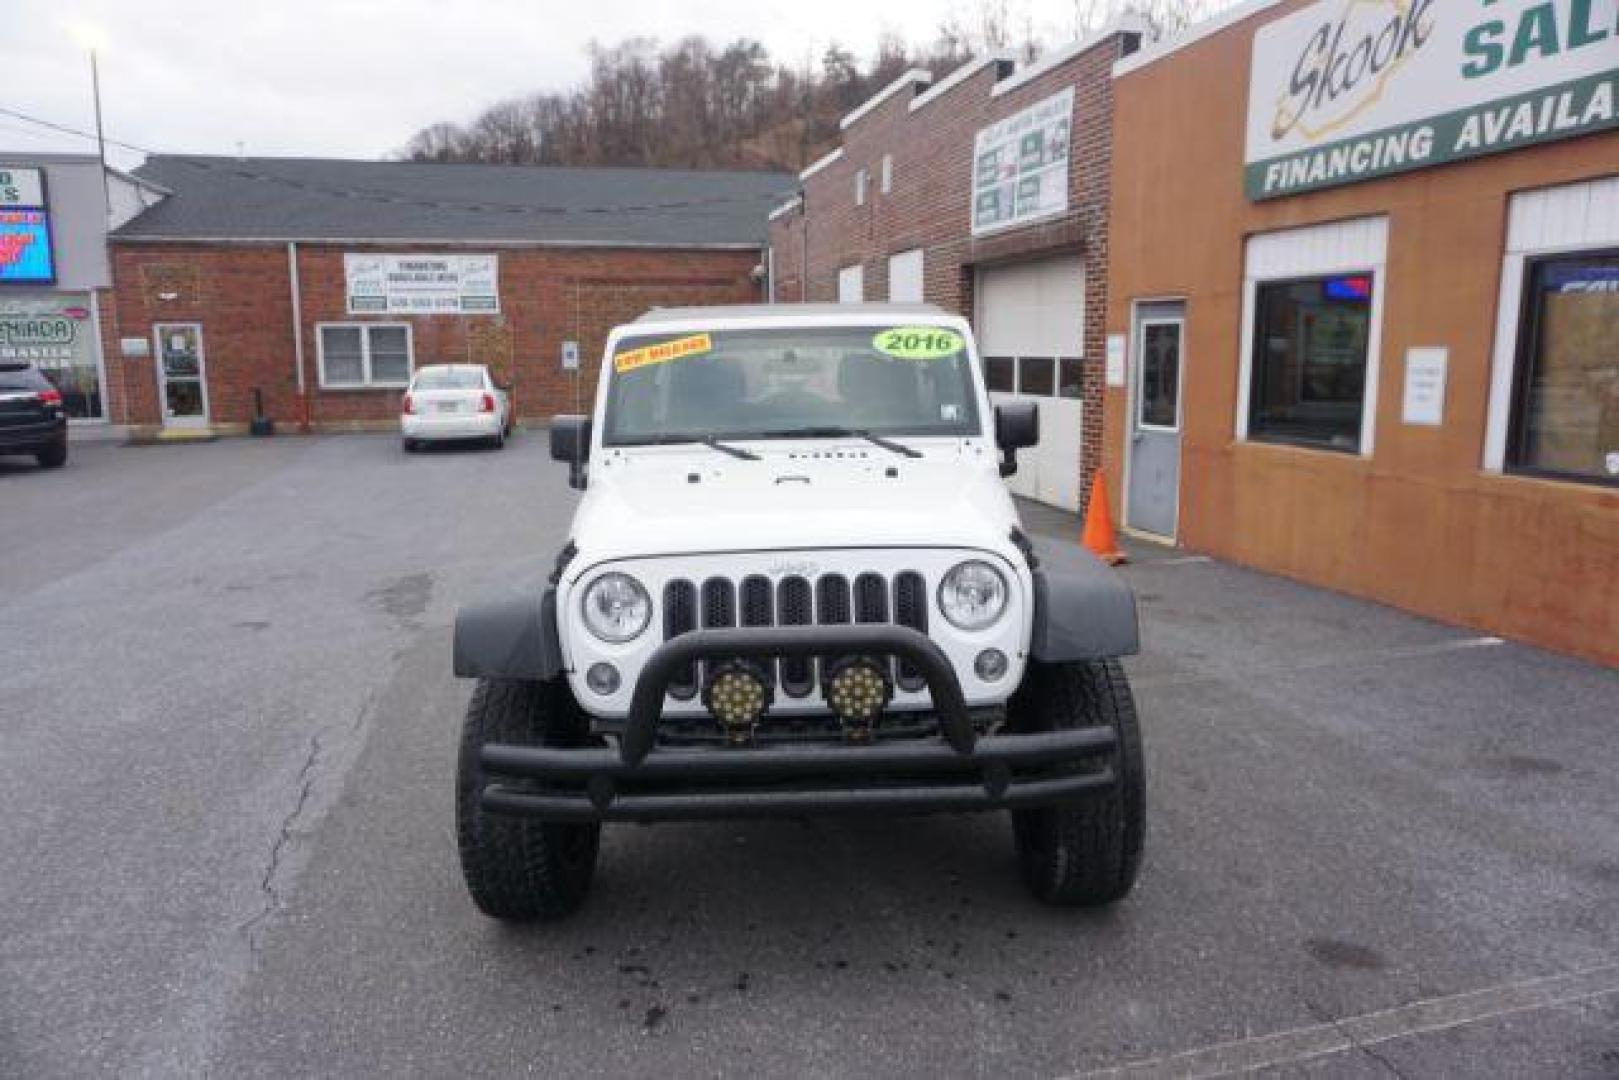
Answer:
[[[1619,664],[1614,6],[1256,0],[1117,65],[1115,518]]]

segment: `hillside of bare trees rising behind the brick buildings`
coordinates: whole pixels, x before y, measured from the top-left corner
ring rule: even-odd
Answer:
[[[1158,32],[1229,0],[1148,0],[1130,6]],[[1117,0],[1075,0],[1073,36],[1117,15]],[[661,165],[798,170],[837,144],[840,117],[908,68],[947,74],[988,50],[1038,58],[1047,44],[1010,0],[981,0],[968,23],[947,19],[924,44],[886,36],[861,63],[834,44],[818,65],[776,62],[756,40],[630,37],[589,45],[589,74],[572,91],[486,108],[471,123],[423,128],[400,151],[419,162]]]

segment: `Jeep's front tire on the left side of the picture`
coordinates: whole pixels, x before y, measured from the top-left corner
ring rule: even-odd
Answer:
[[[581,746],[588,725],[565,680],[479,678],[466,706],[455,776],[461,876],[484,915],[512,923],[562,918],[584,902],[596,874],[599,824],[552,824],[487,813],[479,764],[487,743]]]

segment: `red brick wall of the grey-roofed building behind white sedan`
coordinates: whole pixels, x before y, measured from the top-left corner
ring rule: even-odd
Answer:
[[[112,246],[112,324],[123,337],[151,340],[157,322],[199,322],[207,366],[209,411],[217,426],[246,424],[253,389],[280,424],[306,416],[316,426],[390,423],[398,390],[322,390],[317,324],[408,322],[414,363],[487,363],[512,382],[520,416],[573,411],[573,377],[560,371],[563,340],[580,342],[589,403],[607,332],[648,308],[748,303],[759,298],[758,251],[560,249],[494,244],[499,251],[499,316],[348,316],[343,253],[356,246],[300,244],[298,279],[308,403],[298,398],[291,332],[291,287],[285,244]],[[460,248],[457,251],[473,251]],[[444,248],[389,244],[387,253]],[[112,340],[117,340],[113,337]],[[160,424],[152,358],[121,359],[108,348],[112,416]],[[117,372],[117,374],[115,374]]]

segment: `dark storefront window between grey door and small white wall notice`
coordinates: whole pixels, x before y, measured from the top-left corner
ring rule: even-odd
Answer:
[[[1360,450],[1371,274],[1258,287],[1248,437]]]

